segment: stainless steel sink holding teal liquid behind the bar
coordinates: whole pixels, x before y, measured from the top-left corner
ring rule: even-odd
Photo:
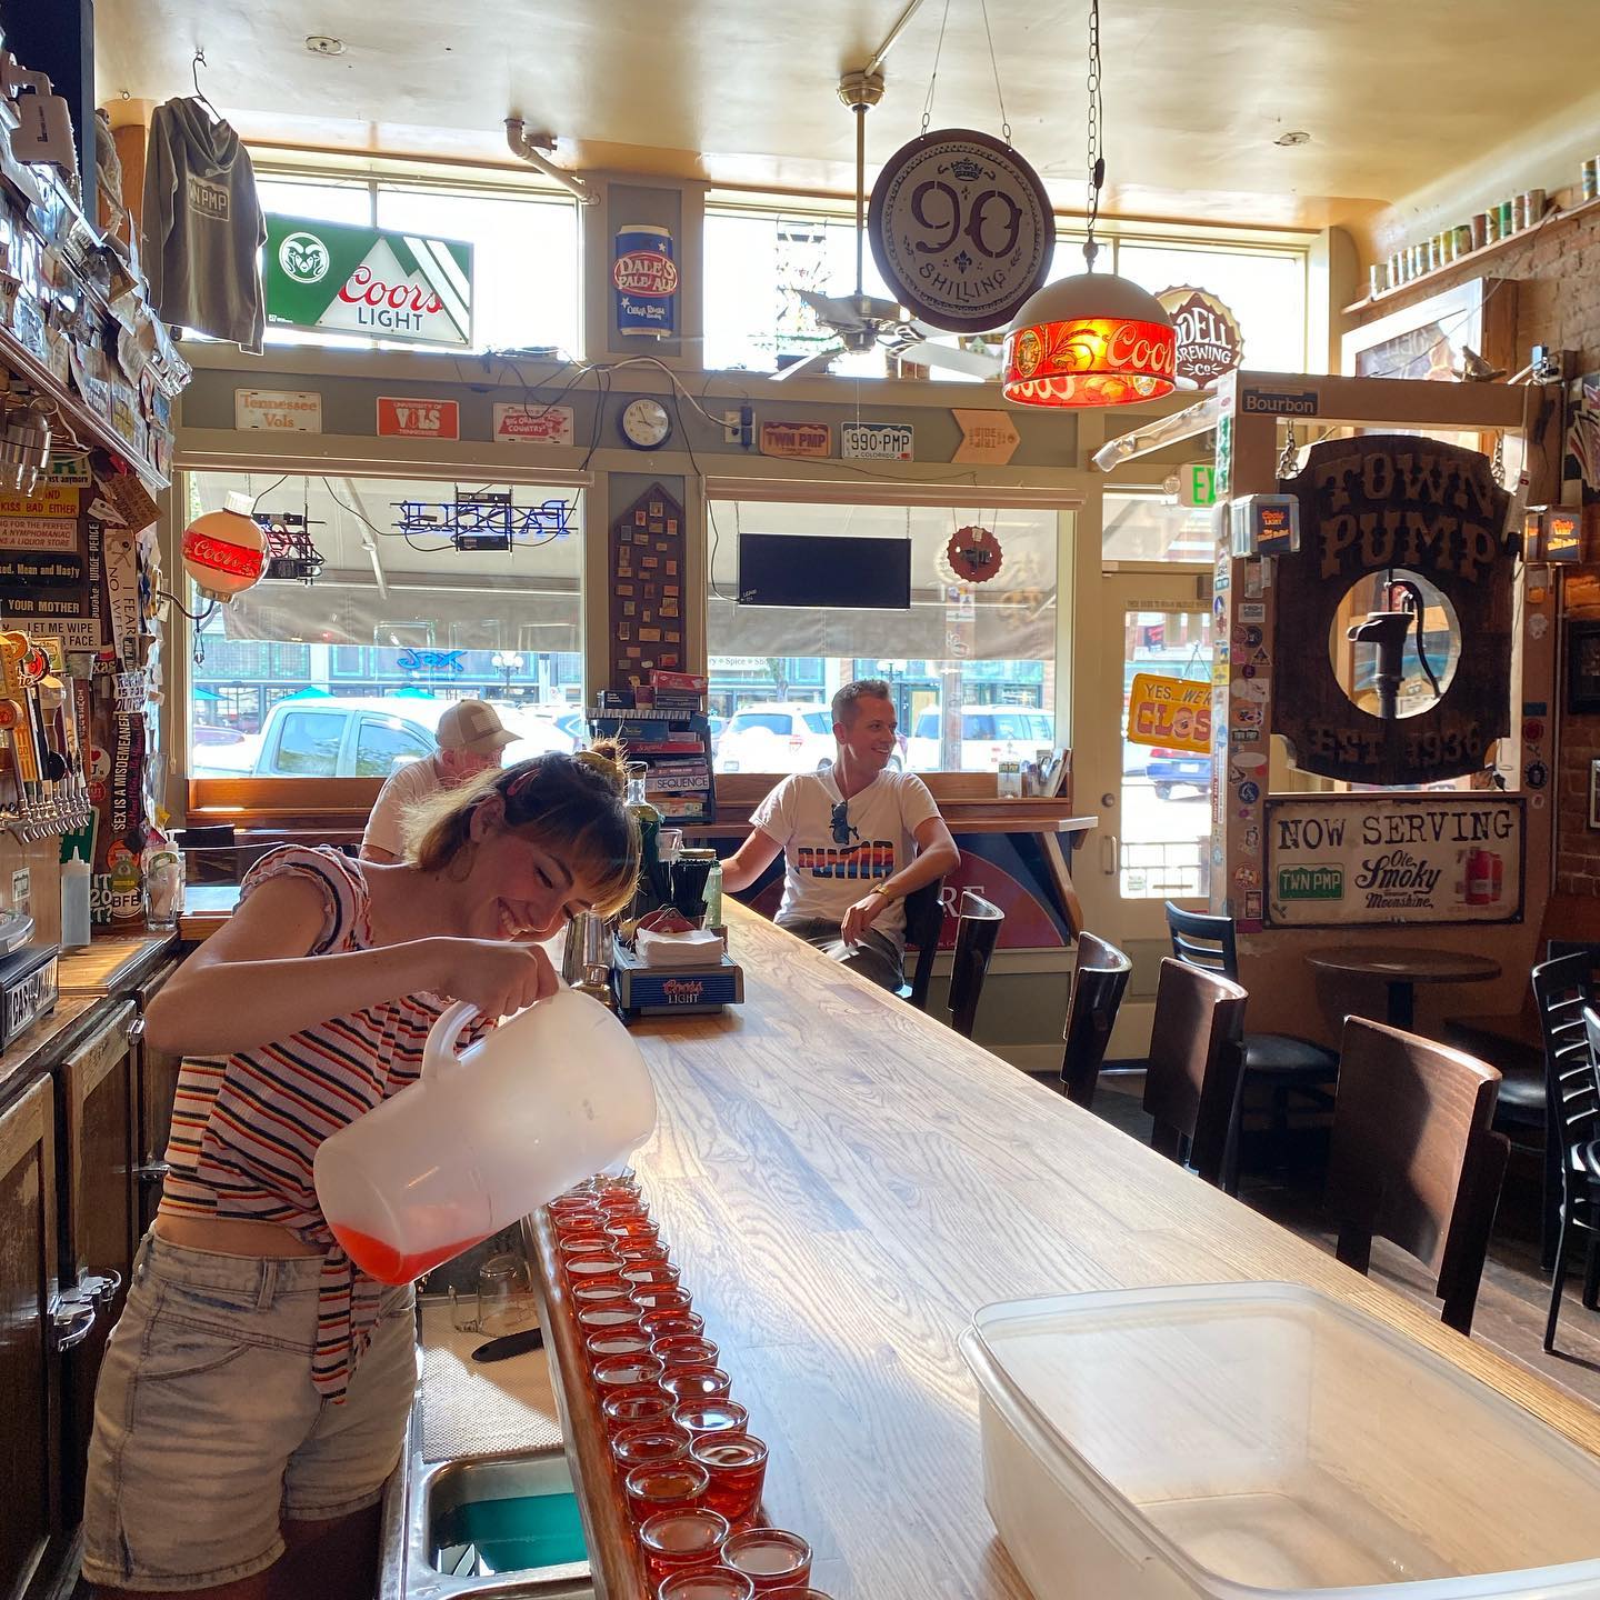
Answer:
[[[589,1600],[589,1560],[571,1496],[562,1450],[418,1467],[408,1494],[406,1595]]]

